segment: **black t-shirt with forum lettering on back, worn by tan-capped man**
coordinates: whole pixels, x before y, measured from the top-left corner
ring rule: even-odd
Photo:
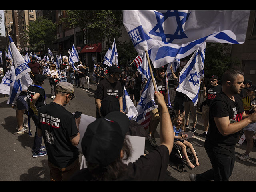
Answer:
[[[48,161],[59,168],[72,164],[79,156],[78,148],[70,141],[78,133],[74,115],[51,102],[38,110],[37,124],[42,130]]]

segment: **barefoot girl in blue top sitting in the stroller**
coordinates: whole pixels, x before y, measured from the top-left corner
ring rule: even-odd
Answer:
[[[189,156],[194,157],[193,161],[195,162],[195,164],[197,166],[199,166],[199,161],[198,161],[198,156],[196,155],[196,151],[194,150],[192,144],[190,142],[188,142],[188,140],[186,140],[187,135],[182,134],[181,136],[178,136],[182,130],[185,132],[185,129],[186,129],[185,128],[185,118],[182,114],[179,114],[174,119],[174,122],[173,122],[173,130],[174,130],[174,149],[173,149],[173,151],[180,153],[179,147],[178,147],[178,146],[180,146],[188,166],[190,166],[191,168],[194,168],[195,166],[190,161]],[[188,156],[188,152],[186,150],[187,147],[190,148],[190,151],[192,152],[192,154],[191,155],[189,154],[189,156]],[[184,168],[184,165],[183,165],[182,169],[183,168]]]

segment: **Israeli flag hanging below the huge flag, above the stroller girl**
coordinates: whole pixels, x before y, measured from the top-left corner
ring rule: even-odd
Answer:
[[[193,56],[180,72],[179,85],[176,88],[177,91],[188,96],[194,103],[194,106],[196,106],[198,101],[200,80],[204,77],[204,56],[205,43],[194,52]]]

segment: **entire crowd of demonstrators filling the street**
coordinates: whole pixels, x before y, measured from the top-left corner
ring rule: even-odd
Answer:
[[[32,57],[28,66],[31,68],[30,76],[34,84],[17,99],[17,133],[29,132],[28,126],[23,124],[24,110],[28,110],[28,115],[36,126],[33,157],[48,155],[52,181],[163,180],[174,143],[182,148],[188,166],[195,168],[200,165],[196,151],[186,139],[187,135],[181,134],[181,131],[189,129],[190,114],[193,124],[189,130],[196,132],[196,107],[190,98],[176,91],[173,105],[176,118],[172,121],[167,107],[166,67],[162,66],[154,71],[158,88],[154,99],[158,108],[150,112],[148,132],[144,134],[149,136],[153,149],[127,165],[122,159],[131,155],[130,141],[126,135],[132,129],[132,122],[123,110],[123,90],[126,89],[137,106],[147,82],[136,68],[116,65],[107,68],[99,62],[96,64],[93,71],[97,85],[94,96],[96,121],[88,125],[84,136],[80,136],[81,117],[74,117],[64,106],[76,98],[74,86],[90,89],[92,80],[88,65],[80,62],[78,70],[74,70],[64,60],[57,69],[56,62],[36,62],[36,58]],[[48,69],[44,72],[45,68]],[[170,70],[178,86],[179,72],[174,72],[172,67]],[[45,103],[45,91],[42,88],[46,77],[49,77],[53,99],[49,104]],[[246,89],[247,96],[254,102],[256,86],[250,80],[245,81],[238,70],[227,70],[222,76],[222,86],[218,82],[218,76],[212,75],[210,85],[203,87],[203,97],[206,98],[202,103],[205,131],[200,136],[205,137],[204,147],[212,169],[201,174],[191,174],[191,181],[228,181],[234,168],[235,145],[242,131],[246,136],[247,148],[240,160],[248,160],[252,150],[252,138],[256,130],[256,105],[251,104],[250,109],[245,111],[242,99],[246,96],[243,91]],[[24,97],[27,97],[27,102]],[[158,125],[160,144],[155,139]],[[145,131],[142,127],[139,129]],[[42,139],[45,146],[42,146]],[[81,170],[77,148],[79,141],[87,163],[87,168]],[[186,154],[187,148],[192,152],[195,164],[190,162]]]

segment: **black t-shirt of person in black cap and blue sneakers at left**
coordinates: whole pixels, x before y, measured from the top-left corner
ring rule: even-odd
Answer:
[[[30,85],[28,87],[28,91],[27,91],[27,102],[28,102],[29,112],[33,112],[33,110],[30,109],[30,101],[32,100],[32,97],[36,93],[40,94],[40,97],[37,99],[37,101],[35,103],[36,108],[38,109],[41,106],[45,105],[45,92],[44,92],[44,88],[42,88],[41,86],[38,86],[38,85]]]

